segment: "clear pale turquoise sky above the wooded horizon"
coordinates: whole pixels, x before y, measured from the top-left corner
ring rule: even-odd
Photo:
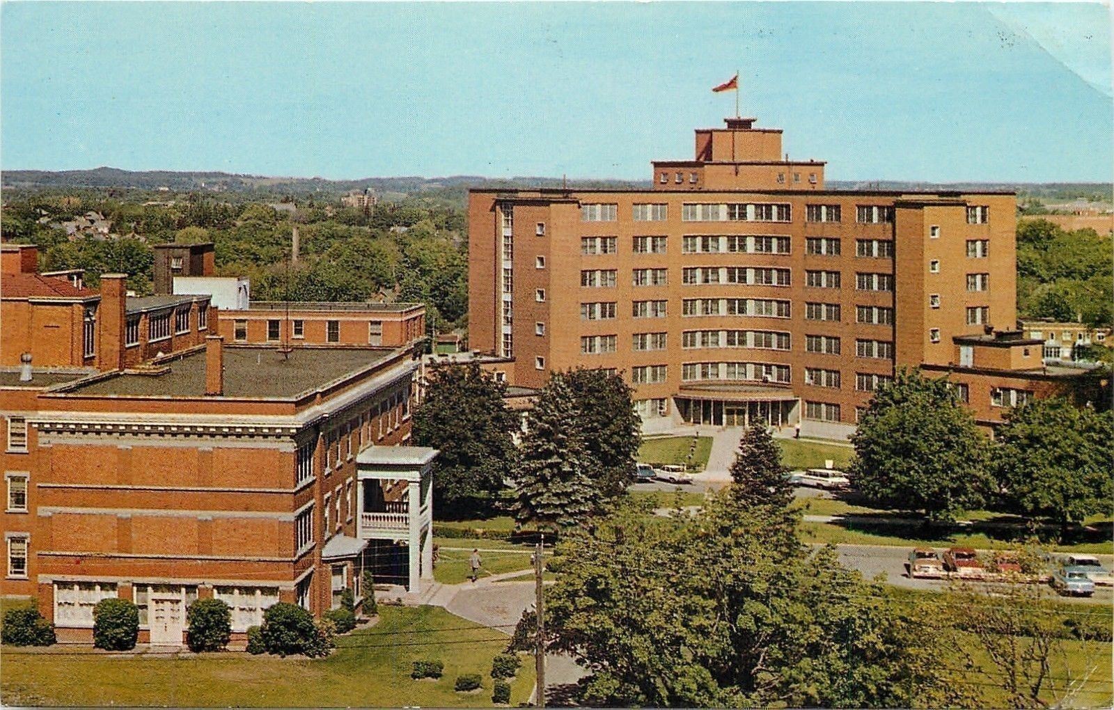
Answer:
[[[1112,181],[1097,3],[0,6],[0,168],[649,179],[744,115],[836,180]]]

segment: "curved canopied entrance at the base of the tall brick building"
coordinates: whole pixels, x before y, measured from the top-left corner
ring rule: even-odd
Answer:
[[[760,385],[691,385],[674,396],[685,424],[707,426],[792,426],[801,401],[788,388]]]

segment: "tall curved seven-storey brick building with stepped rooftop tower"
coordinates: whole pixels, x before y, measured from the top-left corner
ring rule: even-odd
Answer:
[[[529,387],[620,371],[647,428],[840,436],[896,368],[1014,328],[1013,194],[825,189],[753,119],[697,130],[695,152],[648,189],[471,190],[471,347]]]

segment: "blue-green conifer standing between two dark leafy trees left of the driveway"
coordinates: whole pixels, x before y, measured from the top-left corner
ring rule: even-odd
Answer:
[[[576,398],[554,373],[526,416],[512,504],[519,524],[557,530],[576,524],[598,504],[598,469],[576,426]]]

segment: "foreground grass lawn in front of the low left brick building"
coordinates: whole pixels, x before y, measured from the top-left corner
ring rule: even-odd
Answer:
[[[338,639],[326,659],[219,653],[152,659],[118,655],[14,655],[3,648],[0,694],[6,706],[202,707],[489,707],[491,659],[508,637],[443,609],[381,607],[380,622]],[[450,631],[437,631],[451,629]],[[65,650],[65,649],[63,649]],[[416,660],[441,660],[437,681],[410,679]],[[457,693],[461,673],[480,673],[483,690]],[[522,657],[511,706],[534,688]]]

